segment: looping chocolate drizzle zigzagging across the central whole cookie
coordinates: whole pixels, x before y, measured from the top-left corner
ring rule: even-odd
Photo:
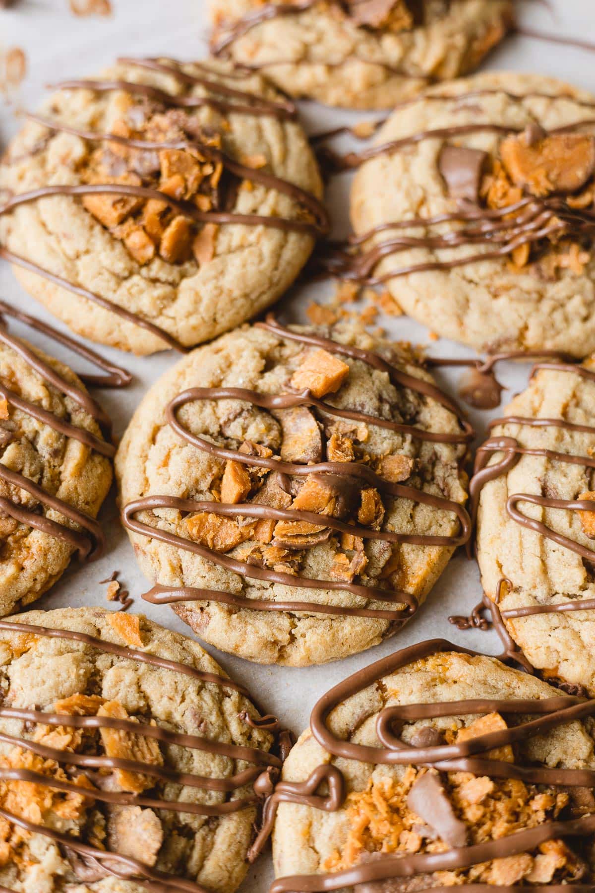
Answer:
[[[354,410],[338,409],[333,405],[317,400],[309,391],[304,391],[302,394],[272,396],[259,394],[256,391],[246,390],[244,388],[191,388],[184,391],[182,394],[174,397],[167,408],[167,418],[171,428],[193,447],[196,447],[203,452],[207,452],[210,455],[215,455],[222,460],[233,460],[235,462],[243,463],[244,465],[266,468],[277,472],[277,474],[280,475],[304,476],[310,474],[330,474],[338,476],[338,478],[343,481],[349,480],[350,478],[361,480],[362,482],[365,481],[369,486],[378,488],[392,497],[410,499],[416,503],[430,505],[438,510],[452,512],[456,514],[460,522],[460,532],[457,535],[426,536],[420,534],[401,534],[390,530],[369,530],[365,527],[356,527],[350,524],[345,524],[342,521],[325,515],[324,524],[331,530],[351,533],[354,536],[361,538],[383,539],[386,542],[411,543],[417,546],[457,547],[466,543],[471,531],[467,512],[463,506],[450,499],[437,497],[433,494],[418,490],[417,488],[391,483],[381,478],[376,472],[373,472],[372,469],[362,463],[325,462],[305,465],[282,462],[275,458],[266,458],[258,455],[246,455],[235,449],[219,447],[212,443],[211,440],[194,435],[186,428],[183,422],[178,419],[177,414],[182,406],[196,400],[220,400],[232,398],[245,400],[247,403],[262,406],[267,409],[278,409],[298,405],[315,405],[319,409],[323,409],[324,412],[340,416],[341,418],[365,421],[369,424],[378,425],[389,430],[398,430],[409,434],[413,438],[419,438],[434,443],[465,444],[469,443],[470,439],[473,438],[473,430],[468,422],[461,417],[459,408],[449,396],[444,394],[436,385],[417,379],[415,376],[396,369],[381,356],[370,351],[362,350],[358,347],[340,344],[330,338],[321,338],[317,335],[285,329],[285,327],[281,326],[270,316],[267,318],[266,322],[260,322],[257,323],[257,325],[273,332],[278,338],[288,338],[299,341],[302,344],[321,346],[335,354],[350,356],[363,363],[368,363],[368,365],[377,370],[387,372],[396,387],[411,388],[418,394],[423,394],[436,400],[441,405],[446,406],[450,412],[455,413],[459,419],[462,432],[460,434],[448,434],[425,431],[413,425],[404,425],[393,421],[377,419],[376,416],[371,417],[365,413],[359,413]],[[251,563],[238,561],[236,558],[229,555],[223,555],[211,548],[193,542],[190,539],[179,537],[177,534],[170,533],[167,530],[161,530],[154,527],[152,524],[142,522],[136,518],[136,514],[139,512],[151,511],[157,508],[173,508],[181,513],[207,512],[224,517],[243,516],[276,520],[306,521],[312,523],[320,523],[321,516],[319,514],[298,511],[295,509],[276,509],[271,508],[268,505],[255,505],[254,503],[232,505],[217,502],[201,502],[171,496],[148,496],[136,499],[124,506],[122,511],[122,523],[128,530],[132,530],[135,533],[139,533],[149,538],[159,539],[161,542],[168,543],[170,546],[185,549],[188,552],[194,553],[194,555],[200,555],[202,558],[206,558],[207,560],[219,564],[221,567],[225,567],[248,579],[266,580],[268,582],[292,587],[350,592],[357,597],[368,600],[374,599],[379,602],[399,605],[399,607],[397,610],[377,610],[376,608],[368,607],[347,608],[341,605],[320,605],[318,603],[310,602],[276,602],[236,596],[214,589],[194,587],[178,588],[161,585],[153,587],[143,596],[145,600],[152,604],[161,605],[187,601],[212,600],[225,605],[245,607],[258,611],[307,611],[311,613],[327,613],[341,616],[376,617],[378,619],[392,621],[396,624],[393,629],[398,628],[398,626],[406,622],[417,611],[417,598],[411,593],[401,589],[391,590],[337,580],[314,580],[310,578],[296,577],[293,574],[270,570],[269,568],[261,568]]]

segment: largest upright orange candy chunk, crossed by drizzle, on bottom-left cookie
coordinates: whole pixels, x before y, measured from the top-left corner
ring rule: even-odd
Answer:
[[[116,614],[114,616],[128,617],[129,619],[129,614]],[[97,716],[109,716],[118,720],[132,719],[118,701],[108,701],[103,704],[97,711]],[[134,719],[132,721],[136,722]],[[137,735],[135,732],[107,727],[103,727],[100,730],[100,735],[107,756],[112,756],[116,759],[135,760],[136,763],[145,763],[150,766],[161,766],[163,764],[159,742],[156,739],[147,738],[140,734]],[[114,774],[120,789],[128,790],[135,794],[140,794],[145,789],[152,788],[155,783],[153,776],[145,775],[142,772],[116,769]]]

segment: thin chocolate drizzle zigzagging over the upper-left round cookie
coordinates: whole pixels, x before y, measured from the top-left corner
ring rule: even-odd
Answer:
[[[295,108],[292,103],[285,101],[272,102],[266,99],[261,99],[259,96],[254,96],[251,93],[245,93],[244,91],[237,90],[236,88],[227,87],[227,85],[220,84],[216,80],[212,80],[208,77],[202,77],[201,75],[190,75],[184,71],[178,71],[173,64],[161,63],[160,61],[155,59],[132,60],[127,58],[122,61],[127,64],[138,65],[141,68],[166,72],[174,76],[181,83],[201,84],[203,87],[211,90],[211,92],[225,98],[174,96],[159,88],[153,88],[145,84],[136,84],[133,81],[126,80],[70,80],[63,81],[56,86],[60,89],[85,88],[95,90],[96,92],[125,90],[126,92],[136,96],[145,96],[147,99],[152,100],[153,102],[156,102],[158,104],[165,105],[167,107],[198,108],[202,105],[207,104],[211,107],[215,107],[219,110],[219,112],[226,114],[241,113],[256,116],[269,115],[277,118],[278,120],[293,118],[295,114]],[[203,70],[203,68],[201,70]],[[214,74],[215,72],[211,73]],[[237,99],[242,99],[244,100],[244,102],[242,104],[238,104],[234,101]],[[183,213],[190,219],[202,223],[212,222],[221,225],[236,223],[242,224],[244,226],[264,226],[276,230],[284,230],[287,232],[303,232],[311,235],[313,238],[318,238],[320,235],[326,234],[329,230],[330,224],[326,208],[324,204],[322,204],[322,202],[320,202],[318,198],[316,198],[316,196],[311,195],[305,189],[294,185],[288,180],[267,173],[266,171],[256,170],[247,167],[242,163],[236,162],[236,160],[231,158],[229,155],[221,152],[218,149],[215,149],[212,146],[206,146],[202,142],[197,141],[191,136],[189,136],[185,140],[152,142],[150,140],[128,139],[117,137],[110,133],[100,133],[93,130],[88,131],[75,127],[69,127],[67,124],[62,123],[62,121],[55,121],[53,119],[49,120],[36,114],[29,114],[28,117],[30,120],[37,121],[37,123],[41,124],[43,127],[47,128],[50,131],[62,131],[64,133],[70,133],[88,141],[115,142],[119,143],[122,146],[129,146],[131,148],[138,148],[141,150],[155,149],[157,151],[161,149],[186,150],[197,146],[198,148],[200,148],[202,154],[211,158],[215,162],[222,163],[227,171],[229,171],[236,177],[249,180],[254,183],[260,183],[268,189],[275,189],[285,196],[289,196],[295,204],[302,206],[302,208],[312,218],[312,221],[298,219],[297,217],[296,219],[290,219],[260,214],[234,213],[233,211],[200,212],[194,206],[194,204],[185,201],[177,201],[166,195],[164,192],[161,192],[161,190],[124,184],[120,186],[114,186],[113,184],[106,184],[104,186],[69,186],[65,184],[54,184],[51,187],[48,186],[45,188],[35,189],[27,193],[21,193],[16,196],[10,196],[4,204],[0,205],[0,216],[4,213],[11,213],[21,204],[38,201],[40,198],[44,198],[45,196],[85,196],[98,193],[103,195],[141,196],[144,198],[157,198],[159,201],[168,204],[170,207],[175,207],[180,213]],[[116,313],[120,316],[121,319],[131,322],[145,329],[146,331],[151,332],[151,334],[153,334],[157,338],[161,338],[165,345],[172,347],[180,351],[181,353],[186,353],[189,349],[186,346],[182,345],[181,342],[178,341],[178,338],[174,338],[166,330],[162,329],[158,325],[155,325],[153,322],[146,320],[140,314],[126,310],[124,307],[121,307],[120,305],[114,303],[109,298],[99,295],[88,288],[76,285],[70,282],[70,280],[67,280],[50,270],[46,270],[45,268],[39,266],[39,264],[29,261],[29,259],[26,257],[16,255],[12,251],[9,251],[7,248],[4,248],[2,246],[0,246],[0,257],[4,257],[4,260],[8,261],[9,263],[14,263],[17,266],[21,266],[25,270],[36,273],[38,276],[42,276],[45,279],[54,282],[55,285],[58,285],[61,288],[66,288],[73,294],[87,298],[87,300],[102,306],[105,310]]]

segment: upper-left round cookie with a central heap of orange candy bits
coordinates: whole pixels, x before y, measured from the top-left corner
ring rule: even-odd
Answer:
[[[52,313],[184,351],[291,285],[328,220],[295,108],[259,74],[130,59],[59,87],[0,165],[0,256]]]

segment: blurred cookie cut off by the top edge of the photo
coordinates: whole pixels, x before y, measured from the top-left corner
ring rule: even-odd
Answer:
[[[211,0],[211,52],[290,96],[392,108],[473,71],[512,25],[511,0]]]

